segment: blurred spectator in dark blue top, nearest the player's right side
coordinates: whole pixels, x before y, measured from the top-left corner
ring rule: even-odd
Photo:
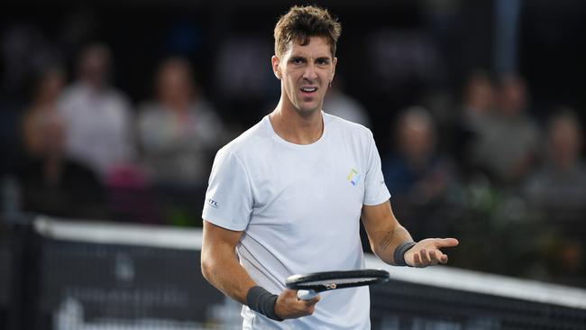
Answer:
[[[399,115],[395,127],[397,150],[382,166],[387,185],[415,203],[440,197],[453,179],[453,170],[450,161],[436,150],[432,116],[426,109],[413,106]]]

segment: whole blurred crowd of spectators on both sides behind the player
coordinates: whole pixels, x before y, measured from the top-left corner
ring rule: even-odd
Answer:
[[[228,128],[188,58],[160,60],[151,98],[132,102],[112,84],[112,51],[90,43],[71,72],[42,66],[22,106],[0,111],[3,197],[17,196],[5,209],[200,225],[215,151],[242,130]],[[414,104],[389,109],[394,120],[375,132],[391,139],[380,156],[401,222],[416,239],[460,238],[456,266],[586,286],[578,109],[559,105],[537,120],[523,77],[482,70],[458,99],[448,123]],[[371,127],[373,109],[344,91],[342,77],[324,109]]]

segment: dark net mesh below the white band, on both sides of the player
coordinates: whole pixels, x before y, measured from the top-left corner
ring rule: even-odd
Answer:
[[[49,236],[34,239],[35,276],[28,285],[33,307],[26,328],[242,326],[240,306],[203,279],[197,249],[173,248],[172,242],[168,248],[147,246],[148,235],[144,246]],[[393,279],[393,272],[398,275],[391,271],[389,282],[371,287],[372,329],[586,329],[586,308],[440,288]],[[472,280],[482,285],[481,277]]]

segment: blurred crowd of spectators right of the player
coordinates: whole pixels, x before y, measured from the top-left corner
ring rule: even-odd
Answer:
[[[454,253],[472,269],[584,286],[586,168],[576,111],[560,105],[540,123],[518,75],[473,71],[463,86],[447,126],[422,106],[398,114],[395,148],[382,159],[398,215],[422,236],[461,237]]]

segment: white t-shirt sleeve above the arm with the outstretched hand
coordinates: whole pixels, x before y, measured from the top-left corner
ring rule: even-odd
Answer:
[[[367,150],[367,170],[364,180],[364,205],[374,206],[386,202],[390,198],[389,189],[385,184],[380,166],[380,155],[369,131]]]

